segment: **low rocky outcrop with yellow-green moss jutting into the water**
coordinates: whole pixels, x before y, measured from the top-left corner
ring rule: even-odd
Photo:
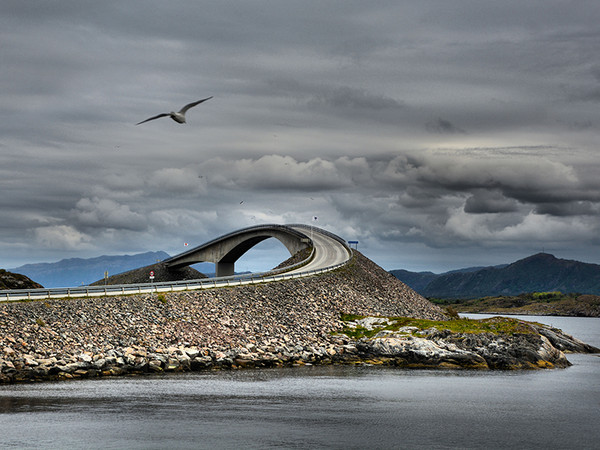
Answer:
[[[600,352],[561,330],[510,318],[463,319],[458,326],[452,325],[366,317],[348,322],[346,331],[361,329],[362,334],[372,335],[357,339],[357,360],[376,358],[380,363],[411,368],[563,368],[571,365],[564,352]]]

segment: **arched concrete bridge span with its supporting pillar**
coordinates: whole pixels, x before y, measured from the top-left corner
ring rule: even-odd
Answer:
[[[235,273],[235,262],[248,250],[265,239],[278,239],[290,255],[312,245],[311,239],[301,231],[286,225],[259,225],[226,234],[163,262],[167,267],[179,268],[199,262],[215,264],[216,276]]]

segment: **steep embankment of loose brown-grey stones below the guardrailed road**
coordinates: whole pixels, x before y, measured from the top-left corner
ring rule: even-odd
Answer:
[[[277,283],[0,303],[0,382],[400,360],[367,355],[342,313],[448,319],[359,253],[335,272]]]

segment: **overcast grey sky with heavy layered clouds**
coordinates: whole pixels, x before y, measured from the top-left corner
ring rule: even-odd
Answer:
[[[586,0],[3,0],[0,268],[291,223],[387,270],[600,264],[599,23]]]

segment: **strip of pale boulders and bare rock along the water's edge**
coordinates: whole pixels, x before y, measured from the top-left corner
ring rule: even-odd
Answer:
[[[599,353],[560,330],[509,319],[516,332],[460,333],[430,327],[404,326],[390,331],[394,321],[410,318],[363,317],[344,322],[344,331],[360,330],[372,336],[352,339],[338,333],[312,343],[272,339],[259,346],[133,345],[106,352],[57,353],[49,358],[17,356],[4,347],[0,384],[64,381],[113,376],[296,367],[305,365],[390,366],[404,369],[537,370],[571,365],[565,352]],[[470,320],[470,319],[469,319]],[[486,326],[504,327],[506,319],[482,319]],[[489,322],[489,324],[488,324]],[[387,328],[387,329],[384,329]],[[15,342],[16,344],[16,342]]]

